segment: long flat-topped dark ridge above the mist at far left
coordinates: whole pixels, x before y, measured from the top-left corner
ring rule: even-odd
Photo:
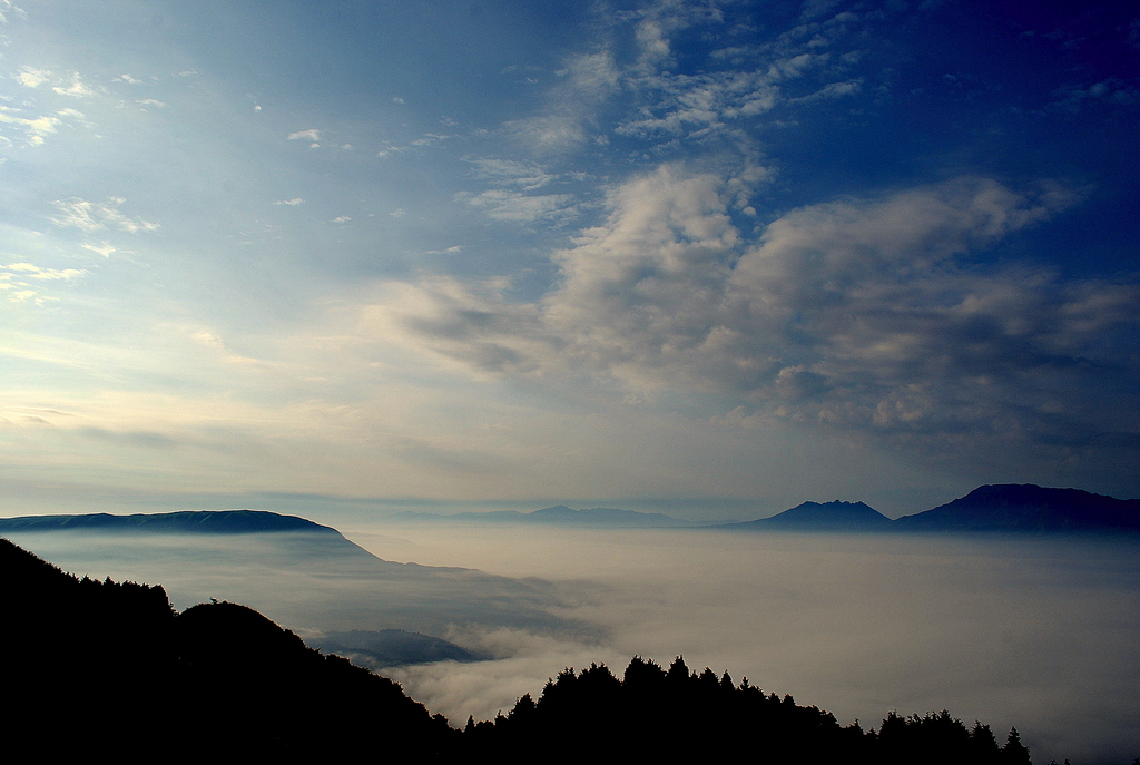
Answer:
[[[340,531],[296,515],[260,510],[203,510],[135,515],[24,515],[0,518],[0,532],[10,531],[150,531],[155,534],[271,534],[304,531],[341,536]],[[342,537],[343,538],[343,537]]]

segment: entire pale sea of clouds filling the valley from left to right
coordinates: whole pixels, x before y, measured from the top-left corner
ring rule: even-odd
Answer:
[[[842,724],[945,708],[1000,738],[1016,725],[1035,762],[1140,754],[1134,543],[439,522],[343,530],[389,561],[521,581],[451,573],[455,592],[441,595],[447,577],[327,575],[259,535],[13,538],[76,573],[160,581],[179,608],[244,602],[302,635],[432,627],[496,657],[385,670],[453,725],[507,711],[563,667],[596,661],[620,674],[634,654],[665,665],[681,654]],[[438,618],[445,609],[457,616]]]

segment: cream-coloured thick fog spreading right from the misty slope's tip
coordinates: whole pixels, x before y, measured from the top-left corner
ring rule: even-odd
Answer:
[[[453,723],[510,709],[564,666],[634,654],[728,670],[739,683],[877,726],[946,708],[1034,760],[1140,755],[1140,564],[1134,544],[1028,538],[728,535],[673,530],[358,527],[375,554],[556,581],[563,616],[609,638],[454,629],[505,658],[390,670]]]

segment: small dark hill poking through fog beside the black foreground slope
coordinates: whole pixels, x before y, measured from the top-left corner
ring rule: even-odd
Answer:
[[[442,637],[404,629],[351,629],[307,637],[315,649],[336,653],[370,669],[431,661],[482,661],[490,657],[472,653]]]

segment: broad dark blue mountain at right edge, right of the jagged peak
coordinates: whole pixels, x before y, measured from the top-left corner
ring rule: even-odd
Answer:
[[[1032,483],[982,486],[891,523],[901,531],[1140,532],[1140,499]]]

